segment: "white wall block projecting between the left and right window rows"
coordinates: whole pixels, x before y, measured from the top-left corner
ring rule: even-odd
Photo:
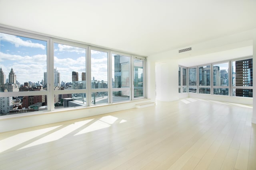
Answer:
[[[178,100],[178,61],[156,63],[156,100]]]

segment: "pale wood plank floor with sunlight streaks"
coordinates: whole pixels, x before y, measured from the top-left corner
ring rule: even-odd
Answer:
[[[252,106],[188,98],[0,133],[0,169],[256,170],[251,117]]]

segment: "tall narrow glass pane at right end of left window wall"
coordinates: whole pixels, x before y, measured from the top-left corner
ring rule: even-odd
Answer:
[[[134,98],[143,96],[143,60],[134,59]]]

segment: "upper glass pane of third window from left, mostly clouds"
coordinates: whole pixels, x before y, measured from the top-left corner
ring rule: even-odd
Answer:
[[[108,53],[91,50],[92,89],[108,88]]]

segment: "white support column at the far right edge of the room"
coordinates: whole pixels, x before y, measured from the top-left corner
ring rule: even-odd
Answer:
[[[252,65],[253,65],[253,112],[252,112],[252,123],[256,124],[256,29],[253,31],[253,51],[252,51]]]

